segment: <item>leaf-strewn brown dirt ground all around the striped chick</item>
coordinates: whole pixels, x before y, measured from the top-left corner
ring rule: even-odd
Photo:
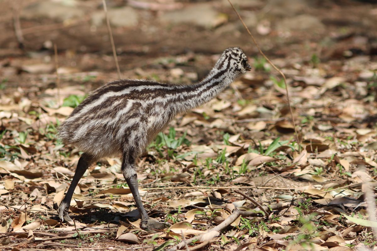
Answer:
[[[118,78],[102,2],[0,2],[2,248],[165,250],[235,207],[255,208],[239,190],[276,209],[238,219],[202,250],[376,249],[368,198],[377,172],[377,3],[232,2],[287,77],[297,135],[281,76],[227,0],[107,1],[121,78],[192,84],[233,46],[253,67],[174,120],[138,161],[147,211],[167,223],[158,236],[139,228],[120,158],[84,175],[74,225],[54,209],[81,154],[61,145],[56,127]]]

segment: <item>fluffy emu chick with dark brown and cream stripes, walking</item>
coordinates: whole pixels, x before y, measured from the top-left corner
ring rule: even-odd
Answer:
[[[84,152],[58,208],[61,221],[72,221],[68,214],[69,204],[78,181],[90,164],[122,154],[121,169],[139,210],[141,228],[163,229],[162,223],[149,218],[141,203],[135,160],[177,114],[210,101],[250,69],[244,52],[239,47],[232,47],[222,53],[202,81],[193,85],[122,79],[90,93],[58,129],[64,144],[72,144]]]

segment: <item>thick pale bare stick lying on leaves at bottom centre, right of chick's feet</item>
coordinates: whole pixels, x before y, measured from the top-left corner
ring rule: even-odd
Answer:
[[[215,237],[220,235],[220,232],[230,226],[236,219],[241,215],[242,217],[250,217],[253,215],[254,212],[252,211],[240,211],[238,208],[234,209],[233,213],[226,218],[223,222],[221,222],[219,225],[211,228],[204,234],[199,234],[198,236],[195,236],[193,238],[184,240],[177,245],[174,245],[172,248],[169,248],[168,251],[176,251],[183,246],[186,245],[186,243],[193,243],[193,242],[206,242],[208,239],[214,239]],[[201,240],[203,239],[203,240]]]

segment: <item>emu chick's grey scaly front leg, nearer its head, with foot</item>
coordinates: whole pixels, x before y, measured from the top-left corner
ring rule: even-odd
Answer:
[[[141,216],[141,228],[147,231],[150,230],[160,230],[164,229],[164,224],[155,221],[151,218],[149,218],[147,211],[145,210],[143,203],[141,202],[139,190],[138,190],[138,179],[137,175],[135,172],[135,169],[133,169],[133,164],[127,164],[127,161],[125,161],[125,158],[123,158],[123,163],[122,163],[122,172],[124,179],[126,180],[131,193],[133,195],[133,199],[135,199],[135,204],[136,207],[139,210],[139,214]]]

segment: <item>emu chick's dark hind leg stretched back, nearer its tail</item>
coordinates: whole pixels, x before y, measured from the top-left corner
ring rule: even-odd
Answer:
[[[72,182],[68,188],[66,196],[60,202],[59,208],[57,210],[61,221],[63,222],[72,221],[72,219],[69,217],[69,214],[68,214],[68,208],[69,208],[70,201],[72,199],[72,195],[75,191],[78,181],[84,175],[86,169],[88,169],[90,164],[92,164],[93,162],[94,162],[94,158],[86,153],[81,155],[80,159],[78,160],[75,175],[73,176]]]

